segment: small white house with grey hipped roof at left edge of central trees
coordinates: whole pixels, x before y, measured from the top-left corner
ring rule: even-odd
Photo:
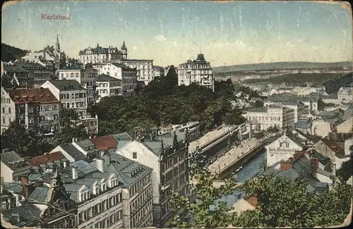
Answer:
[[[103,97],[111,97],[114,95],[123,96],[121,81],[122,80],[109,75],[98,75],[96,80],[96,89],[98,94],[97,101],[100,101]]]

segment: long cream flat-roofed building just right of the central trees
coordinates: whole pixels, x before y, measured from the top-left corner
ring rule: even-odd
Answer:
[[[285,106],[250,109],[243,116],[246,120],[260,124],[260,130],[267,130],[270,127],[285,129],[294,126],[294,110]]]

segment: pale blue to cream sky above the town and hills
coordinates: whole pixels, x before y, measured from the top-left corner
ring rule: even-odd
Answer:
[[[5,6],[3,6],[5,7]],[[211,66],[352,61],[352,12],[309,1],[20,1],[3,8],[2,43],[55,45],[78,58],[87,47],[121,47],[128,58],[179,65],[205,54]],[[43,20],[42,15],[70,15]]]

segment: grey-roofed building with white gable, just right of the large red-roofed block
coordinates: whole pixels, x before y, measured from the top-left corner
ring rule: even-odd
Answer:
[[[87,113],[87,89],[76,80],[48,80],[42,87],[48,88],[61,103],[61,107],[75,109],[80,123],[85,125],[89,135],[98,132],[98,117]]]

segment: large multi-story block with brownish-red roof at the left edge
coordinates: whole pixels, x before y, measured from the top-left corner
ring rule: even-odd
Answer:
[[[1,87],[1,133],[14,120],[36,132],[59,131],[59,99],[45,88]]]

